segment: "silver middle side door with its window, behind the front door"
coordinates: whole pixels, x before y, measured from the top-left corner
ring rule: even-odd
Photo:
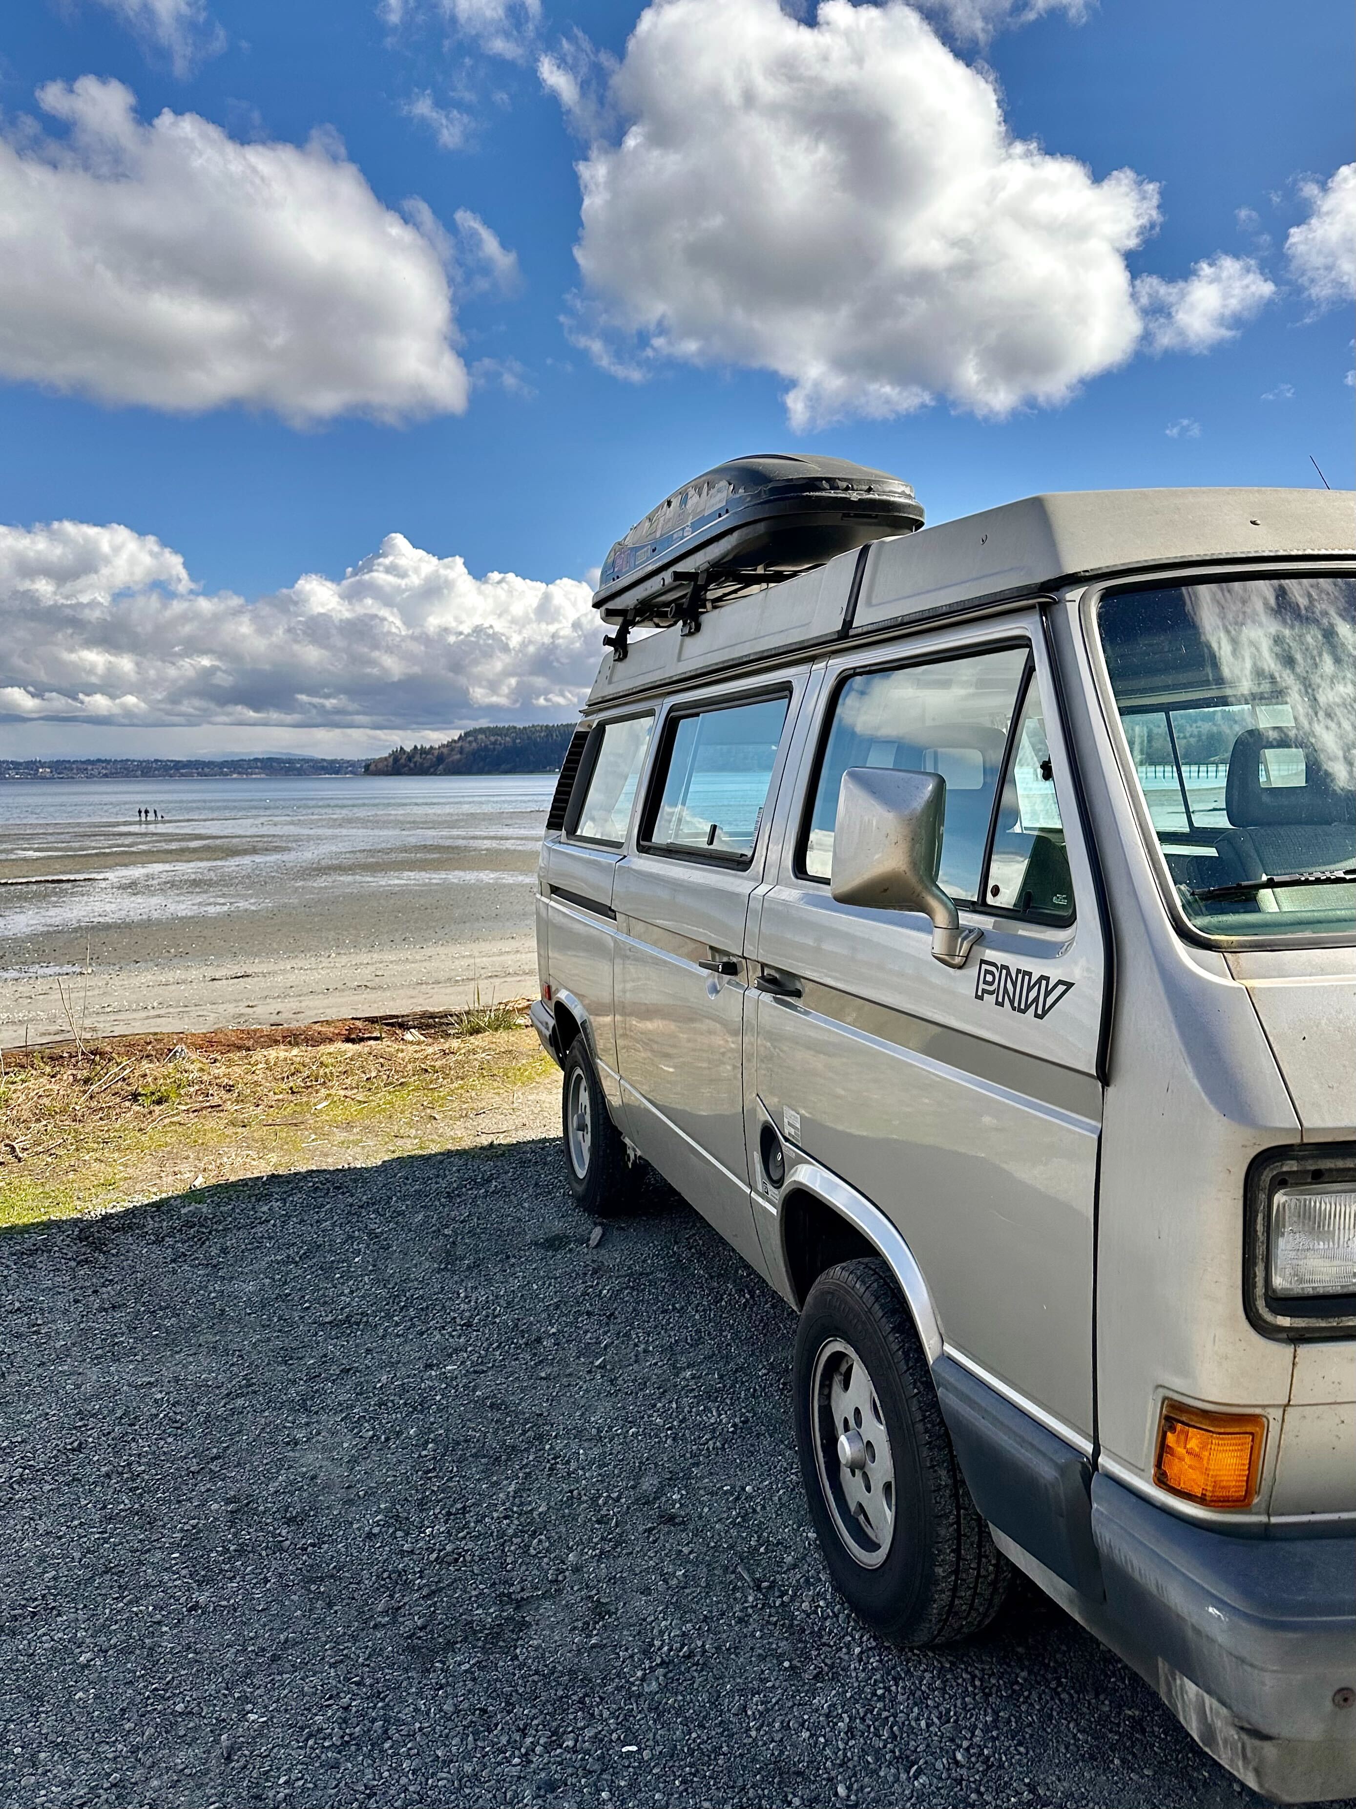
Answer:
[[[617,1055],[626,1127],[763,1268],[743,1141],[745,921],[792,686],[674,707],[636,850],[617,868]]]

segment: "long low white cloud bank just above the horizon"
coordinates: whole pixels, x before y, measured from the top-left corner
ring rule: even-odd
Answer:
[[[389,534],[342,579],[202,593],[125,526],[0,526],[0,722],[447,729],[570,716],[597,671],[589,586],[474,577]]]

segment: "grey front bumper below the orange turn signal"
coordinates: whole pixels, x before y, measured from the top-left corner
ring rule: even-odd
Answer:
[[[1092,1478],[1090,1624],[1278,1802],[1356,1796],[1356,1538],[1242,1538]],[[1097,1624],[1105,1615],[1105,1624]]]

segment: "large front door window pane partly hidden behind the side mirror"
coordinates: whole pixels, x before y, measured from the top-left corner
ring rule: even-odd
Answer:
[[[1018,704],[1025,648],[859,673],[839,691],[801,852],[810,879],[833,867],[833,823],[848,767],[940,772],[946,780],[942,885],[973,904],[989,819]]]

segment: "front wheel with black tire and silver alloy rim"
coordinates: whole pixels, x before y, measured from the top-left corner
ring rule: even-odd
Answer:
[[[841,1447],[830,1442],[839,1420]],[[879,1259],[839,1263],[810,1288],[796,1335],[796,1449],[833,1583],[868,1626],[899,1646],[940,1646],[993,1621],[1011,1565],[969,1496],[913,1319]],[[873,1474],[875,1492],[862,1494]]]

